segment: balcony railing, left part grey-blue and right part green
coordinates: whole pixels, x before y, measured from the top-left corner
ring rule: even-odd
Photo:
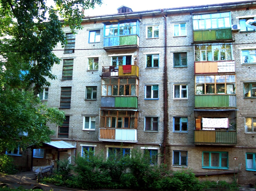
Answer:
[[[138,108],[138,97],[102,97],[103,108]]]

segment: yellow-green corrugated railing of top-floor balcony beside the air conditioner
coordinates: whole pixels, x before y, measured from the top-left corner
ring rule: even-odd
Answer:
[[[231,28],[194,30],[194,42],[232,40]]]

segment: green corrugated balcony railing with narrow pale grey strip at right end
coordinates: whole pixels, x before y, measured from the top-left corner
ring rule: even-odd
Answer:
[[[236,95],[195,95],[195,108],[236,107]]]

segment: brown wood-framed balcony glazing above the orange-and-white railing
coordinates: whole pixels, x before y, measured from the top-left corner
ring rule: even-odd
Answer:
[[[102,110],[100,127],[104,128],[137,128],[138,113],[125,110]]]

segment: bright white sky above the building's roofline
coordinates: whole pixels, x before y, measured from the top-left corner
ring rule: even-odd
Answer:
[[[95,9],[86,10],[85,16],[115,14],[117,13],[117,8],[121,7],[122,5],[131,8],[135,12],[153,9],[208,5],[237,1],[239,0],[102,0],[103,4],[101,6],[96,6]]]

